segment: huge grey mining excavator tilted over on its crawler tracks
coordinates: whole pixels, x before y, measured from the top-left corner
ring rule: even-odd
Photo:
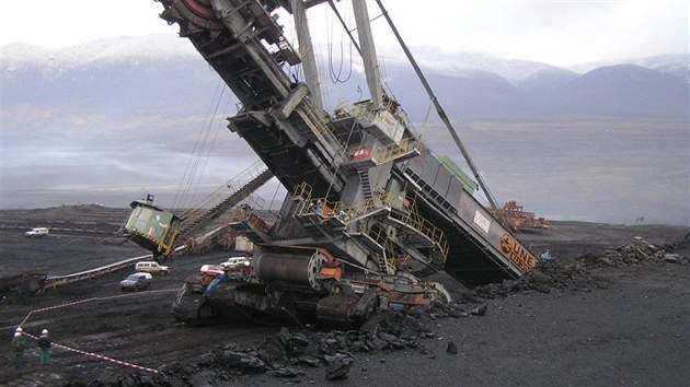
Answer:
[[[327,2],[337,12],[333,2],[160,2],[161,17],[180,26],[240,99],[228,128],[288,191],[273,225],[251,209],[235,224],[256,246],[246,275],[219,275],[200,293],[185,284],[173,304],[176,319],[357,326],[380,308],[448,301],[440,284],[425,281],[440,270],[474,286],[518,278],[537,263],[478,201],[476,184],[421,141],[381,87],[366,1],[352,5],[371,97],[334,112],[323,108],[306,22],[310,7]],[[277,24],[280,8],[295,19],[299,49]],[[298,67],[304,82],[290,75]],[[163,218],[153,237],[130,230],[159,257],[179,233],[177,216]]]

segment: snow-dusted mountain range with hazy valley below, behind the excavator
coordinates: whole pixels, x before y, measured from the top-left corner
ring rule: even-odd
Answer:
[[[330,107],[367,97],[361,63],[340,52],[321,59]],[[550,219],[690,224],[688,55],[565,69],[413,52],[497,198]],[[461,165],[412,68],[386,56],[381,70],[423,140]],[[170,206],[181,180],[202,195],[256,159],[226,129],[237,98],[186,39],[8,45],[0,81],[0,207],[126,207],[142,190]]]

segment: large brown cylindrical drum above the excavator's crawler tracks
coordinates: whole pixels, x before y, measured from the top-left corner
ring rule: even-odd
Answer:
[[[319,251],[307,251],[276,254],[258,250],[253,259],[254,273],[262,281],[284,281],[322,290],[323,286],[317,281],[317,275],[327,258]]]

